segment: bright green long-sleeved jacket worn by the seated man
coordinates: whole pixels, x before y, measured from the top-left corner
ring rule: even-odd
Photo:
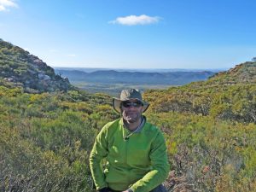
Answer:
[[[104,158],[106,165],[102,168]],[[96,137],[90,153],[90,171],[96,189],[148,192],[162,183],[169,172],[165,139],[148,122],[131,134],[123,119],[114,120]]]

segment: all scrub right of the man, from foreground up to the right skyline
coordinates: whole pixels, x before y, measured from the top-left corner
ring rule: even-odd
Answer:
[[[169,183],[180,178],[191,191],[255,191],[255,79],[256,62],[246,62],[205,82],[146,91],[151,121],[166,132]]]

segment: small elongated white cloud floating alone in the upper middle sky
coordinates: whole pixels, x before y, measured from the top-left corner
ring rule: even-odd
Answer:
[[[111,24],[120,24],[125,26],[137,26],[137,25],[149,25],[157,23],[160,17],[154,16],[150,17],[148,15],[129,15],[125,17],[118,17],[115,20],[109,21]]]

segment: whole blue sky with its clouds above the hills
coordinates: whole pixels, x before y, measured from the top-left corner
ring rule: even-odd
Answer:
[[[0,0],[0,38],[51,67],[230,68],[256,56],[255,0]]]

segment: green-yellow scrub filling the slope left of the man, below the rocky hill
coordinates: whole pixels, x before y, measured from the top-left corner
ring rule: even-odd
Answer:
[[[0,87],[0,191],[90,191],[88,155],[110,98]]]

